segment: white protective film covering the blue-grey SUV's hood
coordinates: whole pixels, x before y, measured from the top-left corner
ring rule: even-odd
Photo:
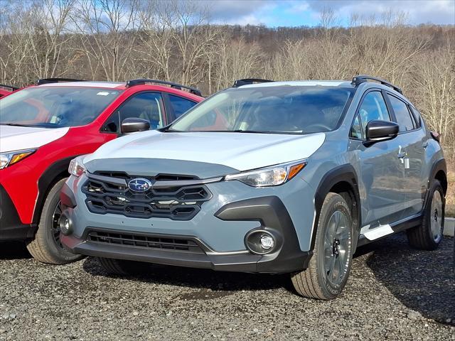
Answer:
[[[215,163],[247,171],[309,158],[322,146],[325,137],[323,133],[289,135],[144,131],[101,146],[84,162],[112,158],[153,158]]]

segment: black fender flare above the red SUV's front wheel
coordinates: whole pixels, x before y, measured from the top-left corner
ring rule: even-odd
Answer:
[[[81,155],[81,154],[80,154]],[[66,158],[62,158],[58,161],[52,163],[44,172],[41,174],[40,178],[38,179],[38,198],[36,199],[35,210],[33,211],[33,224],[38,224],[41,216],[41,211],[43,210],[43,204],[45,201],[45,197],[48,194],[49,187],[55,180],[60,180],[62,177],[61,174],[67,172],[68,173],[68,166],[70,166],[70,161],[75,156],[68,156]],[[68,173],[70,176],[70,173]]]

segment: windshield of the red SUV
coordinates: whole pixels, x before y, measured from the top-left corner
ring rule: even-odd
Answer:
[[[95,87],[30,87],[0,100],[0,124],[60,128],[89,124],[119,90]]]

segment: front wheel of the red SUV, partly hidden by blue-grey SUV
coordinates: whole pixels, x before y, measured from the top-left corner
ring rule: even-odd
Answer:
[[[66,179],[55,183],[45,198],[35,238],[27,242],[27,249],[34,259],[46,264],[68,264],[83,256],[63,249],[60,242],[60,190]]]

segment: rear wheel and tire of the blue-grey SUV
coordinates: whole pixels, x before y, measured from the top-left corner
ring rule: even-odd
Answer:
[[[429,188],[429,200],[424,207],[422,224],[407,230],[411,247],[422,250],[437,249],[442,240],[445,217],[445,197],[439,180],[433,180]]]

